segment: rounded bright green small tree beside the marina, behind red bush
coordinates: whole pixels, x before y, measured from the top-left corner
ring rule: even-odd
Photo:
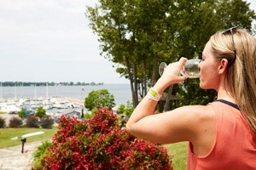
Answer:
[[[107,89],[91,91],[84,101],[88,111],[101,108],[112,109],[114,105],[113,94],[110,94]]]

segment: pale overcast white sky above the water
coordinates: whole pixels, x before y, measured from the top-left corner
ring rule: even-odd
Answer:
[[[0,0],[0,82],[129,83],[100,55],[84,15],[95,2]]]

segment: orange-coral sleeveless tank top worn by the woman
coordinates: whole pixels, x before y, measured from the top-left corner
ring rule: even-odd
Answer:
[[[207,156],[195,156],[189,143],[188,170],[256,170],[256,133],[241,111],[225,100],[210,103],[217,119],[216,139]]]

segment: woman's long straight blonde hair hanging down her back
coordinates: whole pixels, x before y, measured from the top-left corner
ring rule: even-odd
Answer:
[[[228,59],[226,86],[256,132],[256,39],[248,31],[218,31],[211,38],[216,59]]]

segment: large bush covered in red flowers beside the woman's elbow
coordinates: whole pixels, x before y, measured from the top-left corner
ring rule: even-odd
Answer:
[[[132,137],[113,111],[98,110],[85,121],[63,116],[59,128],[40,169],[172,169],[165,148]]]

